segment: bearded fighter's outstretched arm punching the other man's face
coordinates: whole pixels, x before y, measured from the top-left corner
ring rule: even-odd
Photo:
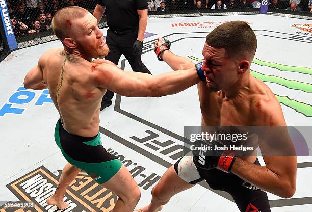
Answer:
[[[195,66],[187,70],[180,70],[152,76],[139,72],[122,71],[111,64],[101,64],[95,71],[95,79],[102,88],[123,96],[160,97],[183,91],[200,80]]]

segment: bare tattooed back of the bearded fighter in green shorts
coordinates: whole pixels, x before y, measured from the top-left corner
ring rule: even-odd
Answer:
[[[59,111],[64,128],[71,134],[92,137],[99,130],[100,101],[106,89],[99,88],[93,72],[96,64],[66,59],[62,48],[47,52],[43,78]]]

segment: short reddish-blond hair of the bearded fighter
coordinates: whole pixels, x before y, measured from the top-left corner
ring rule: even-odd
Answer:
[[[74,23],[76,19],[83,18],[87,13],[88,10],[77,6],[64,7],[58,10],[52,19],[54,34],[63,41],[64,38],[69,37],[70,26],[68,26],[68,23]]]

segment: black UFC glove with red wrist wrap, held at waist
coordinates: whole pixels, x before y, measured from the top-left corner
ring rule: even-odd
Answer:
[[[198,147],[201,147],[202,149],[198,149]],[[194,142],[194,148],[197,149],[192,150],[195,165],[202,169],[210,170],[217,168],[221,171],[230,173],[236,155],[227,154],[223,150],[215,150],[216,147],[222,148],[224,145],[217,141],[207,142],[196,140]]]

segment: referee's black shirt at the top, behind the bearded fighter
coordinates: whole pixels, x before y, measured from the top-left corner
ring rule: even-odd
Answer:
[[[105,6],[107,25],[112,30],[124,31],[139,26],[137,10],[146,10],[146,0],[97,0]]]

